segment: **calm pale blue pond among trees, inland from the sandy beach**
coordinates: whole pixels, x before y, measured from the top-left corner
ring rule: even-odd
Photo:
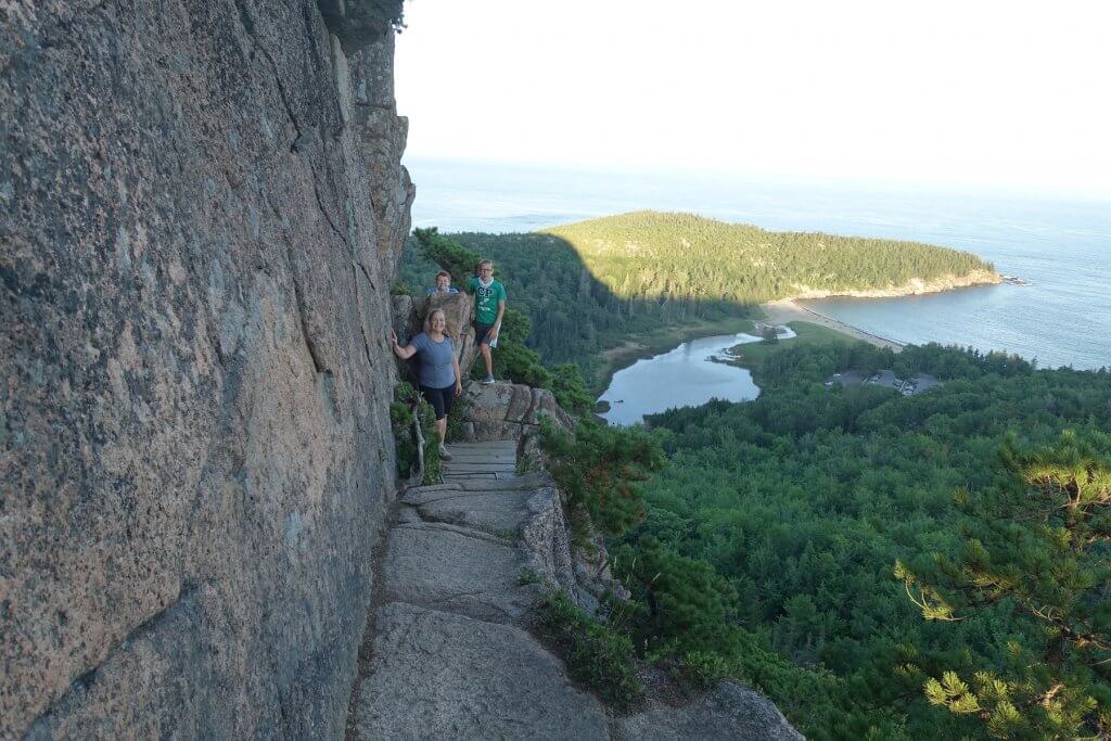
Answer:
[[[794,337],[781,328],[780,338]],[[711,399],[750,401],[760,395],[752,374],[729,366],[725,351],[743,342],[759,342],[751,334],[718,334],[683,342],[674,350],[638,360],[613,374],[599,401],[610,408],[601,417],[610,424],[637,424],[645,414],[673,407],[698,407]]]

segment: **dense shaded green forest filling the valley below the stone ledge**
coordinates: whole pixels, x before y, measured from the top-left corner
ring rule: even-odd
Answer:
[[[894,364],[945,383],[822,383]],[[671,464],[611,549],[634,644],[753,683],[809,738],[1107,733],[1111,374],[845,343],[759,378],[651,418]]]

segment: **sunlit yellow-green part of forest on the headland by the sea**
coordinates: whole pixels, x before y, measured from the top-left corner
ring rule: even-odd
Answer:
[[[751,304],[992,270],[969,252],[920,242],[767,231],[690,213],[637,211],[540,233],[570,244],[621,299]]]

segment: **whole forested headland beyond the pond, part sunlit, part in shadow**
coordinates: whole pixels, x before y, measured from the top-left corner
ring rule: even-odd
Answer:
[[[599,352],[661,326],[750,316],[800,293],[884,289],[991,266],[917,242],[771,232],[685,213],[640,211],[527,234],[452,234],[494,261],[510,306],[528,313],[528,346],[573,360],[597,381]],[[411,242],[401,277],[431,284],[438,268]]]

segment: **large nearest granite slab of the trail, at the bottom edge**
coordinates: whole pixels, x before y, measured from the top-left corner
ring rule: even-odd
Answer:
[[[359,739],[605,739],[605,712],[513,625],[390,603],[354,709]]]

